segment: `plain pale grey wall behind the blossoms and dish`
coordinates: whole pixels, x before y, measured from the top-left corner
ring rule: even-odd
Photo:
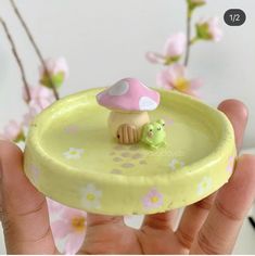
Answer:
[[[186,29],[184,0],[18,0],[16,1],[44,56],[65,56],[69,78],[61,97],[91,87],[112,85],[123,77],[137,77],[156,86],[160,66],[150,64],[145,52],[162,51],[166,39]],[[230,27],[224,22],[228,9],[242,9],[246,22]],[[204,86],[202,99],[216,106],[237,98],[250,108],[244,149],[255,148],[255,1],[208,0],[195,11],[194,21],[218,16],[224,38],[218,43],[201,42],[191,49],[189,76]],[[8,0],[0,0],[5,20],[24,62],[28,81],[38,82],[39,62]],[[21,119],[20,71],[10,44],[0,29],[0,129],[10,118]],[[245,238],[245,239],[244,239]],[[245,222],[235,253],[255,253],[255,232]],[[0,253],[3,253],[0,238]]]

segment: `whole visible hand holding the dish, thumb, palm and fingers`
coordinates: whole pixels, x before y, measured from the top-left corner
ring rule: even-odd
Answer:
[[[247,120],[235,100],[219,105],[234,127],[240,149]],[[23,154],[0,142],[1,220],[8,254],[55,254],[44,196],[24,176]],[[209,197],[186,207],[179,225],[176,210],[145,216],[140,229],[123,217],[88,214],[80,254],[230,254],[255,197],[255,156],[238,158],[230,181]],[[177,226],[177,228],[176,228]]]

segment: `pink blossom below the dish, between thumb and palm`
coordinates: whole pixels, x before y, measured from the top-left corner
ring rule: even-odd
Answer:
[[[65,207],[60,218],[52,221],[51,229],[55,240],[64,239],[65,254],[76,254],[82,245],[86,234],[86,213]]]

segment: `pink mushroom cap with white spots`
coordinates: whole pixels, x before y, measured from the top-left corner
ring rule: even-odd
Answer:
[[[100,92],[97,101],[113,111],[153,111],[160,104],[160,93],[136,78],[125,78]]]

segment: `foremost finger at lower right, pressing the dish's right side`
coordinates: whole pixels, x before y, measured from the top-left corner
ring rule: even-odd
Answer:
[[[243,219],[255,197],[254,183],[255,156],[241,156],[229,183],[218,192],[191,254],[231,253]]]

